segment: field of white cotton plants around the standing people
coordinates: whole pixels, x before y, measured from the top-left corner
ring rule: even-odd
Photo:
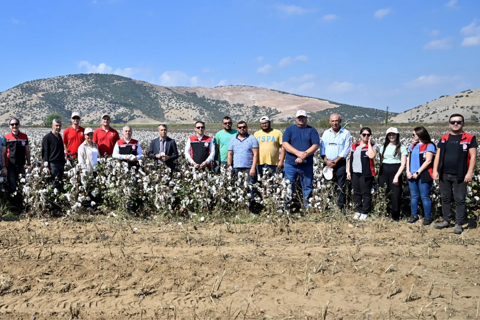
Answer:
[[[275,126],[274,126],[275,127]],[[207,127],[208,128],[208,127]],[[66,128],[64,128],[66,129]],[[359,128],[348,128],[352,132],[352,140],[357,141]],[[413,142],[411,128],[399,128],[401,141],[407,147]],[[448,132],[447,126],[427,128],[434,142],[438,142],[442,134]],[[320,136],[324,129],[317,128]],[[374,142],[380,145],[384,142],[384,127],[373,127]],[[478,132],[466,131],[476,134]],[[26,212],[32,215],[48,213],[56,208],[61,214],[84,212],[84,206],[88,203],[100,204],[100,212],[131,213],[147,218],[156,218],[160,215],[178,216],[186,219],[201,219],[205,216],[232,216],[245,212],[248,208],[249,194],[247,183],[248,177],[241,175],[232,177],[232,174],[224,166],[215,166],[213,171],[196,169],[190,166],[183,155],[183,148],[187,138],[193,134],[190,129],[170,129],[168,136],[177,142],[179,160],[177,169],[169,178],[169,168],[164,166],[156,170],[153,162],[146,157],[150,141],[158,138],[156,128],[135,129],[133,138],[141,142],[144,151],[144,159],[141,160],[141,169],[135,171],[128,168],[126,163],[113,158],[102,159],[98,166],[98,175],[94,179],[87,177],[85,170],[76,166],[75,163],[67,162],[63,190],[52,190],[48,183],[47,170],[40,159],[41,141],[48,133],[46,128],[21,128],[29,138],[32,154],[32,169],[22,177],[19,192],[24,194]],[[206,130],[205,134],[214,136],[217,130]],[[250,133],[253,133],[251,130]],[[6,134],[6,128],[0,130],[0,134]],[[120,132],[120,130],[119,130]],[[121,134],[121,133],[120,133]],[[352,142],[353,142],[352,141]],[[379,159],[377,156],[376,167],[378,173]],[[333,196],[332,185],[322,175],[323,161],[318,152],[315,155],[314,164],[314,189],[308,210],[301,206],[295,206],[296,193],[290,194],[290,181],[283,178],[282,172],[277,172],[273,177],[265,173],[259,177],[259,182],[254,185],[255,200],[258,210],[252,214],[262,214],[270,219],[278,219],[282,216],[314,215],[317,217],[335,217],[338,210]],[[404,203],[403,214],[409,214],[408,183],[404,177]],[[474,181],[468,187],[467,205],[468,212],[479,208],[480,172],[475,171]],[[6,179],[0,178],[0,194],[6,198]],[[95,203],[88,196],[87,190],[93,189],[92,195],[100,199]],[[350,190],[349,183],[347,188]],[[438,183],[432,187],[432,201],[434,208],[439,208],[440,191]],[[375,186],[372,202],[372,215],[385,214],[386,201],[382,190]],[[301,192],[300,192],[301,194]],[[348,208],[353,204],[348,194]],[[286,203],[293,197],[293,204],[286,207]],[[98,201],[98,200],[97,200]],[[351,211],[351,210],[350,210]],[[97,211],[98,212],[98,211]],[[348,212],[349,213],[349,212]],[[433,214],[439,214],[435,210]],[[202,220],[203,221],[203,220]]]

